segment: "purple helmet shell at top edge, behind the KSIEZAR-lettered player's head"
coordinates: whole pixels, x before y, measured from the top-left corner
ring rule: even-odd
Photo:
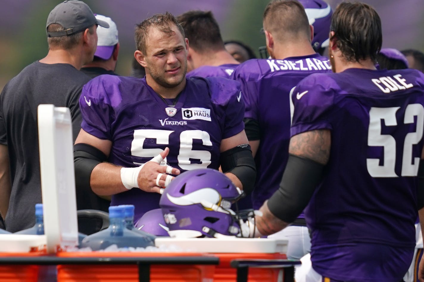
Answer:
[[[333,11],[323,0],[299,0],[304,6],[309,24],[314,27],[312,47],[315,51],[328,47],[331,16]]]

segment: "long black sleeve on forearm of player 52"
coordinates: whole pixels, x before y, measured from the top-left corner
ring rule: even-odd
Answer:
[[[321,163],[290,154],[280,188],[268,200],[271,213],[287,223],[293,222],[309,203],[323,169]]]

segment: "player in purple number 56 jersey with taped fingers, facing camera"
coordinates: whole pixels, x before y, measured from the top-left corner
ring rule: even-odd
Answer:
[[[83,88],[76,185],[112,195],[111,205],[134,205],[135,218],[159,208],[161,187],[186,170],[221,166],[251,190],[256,169],[240,84],[186,78],[188,40],[168,12],[139,23],[135,39],[145,78],[101,75]]]

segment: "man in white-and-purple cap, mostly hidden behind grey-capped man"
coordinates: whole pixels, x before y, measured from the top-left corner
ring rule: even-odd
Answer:
[[[98,41],[96,53],[94,53],[92,62],[82,66],[81,72],[84,72],[89,77],[117,75],[115,69],[119,53],[118,29],[111,18],[98,14],[95,17],[96,19],[107,22],[109,28],[103,28],[101,26],[97,28]]]

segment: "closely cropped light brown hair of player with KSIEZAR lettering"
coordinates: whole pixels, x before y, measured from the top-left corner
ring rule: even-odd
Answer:
[[[297,0],[273,0],[263,14],[263,27],[274,40],[283,42],[290,37],[307,36],[311,30],[305,8]]]

